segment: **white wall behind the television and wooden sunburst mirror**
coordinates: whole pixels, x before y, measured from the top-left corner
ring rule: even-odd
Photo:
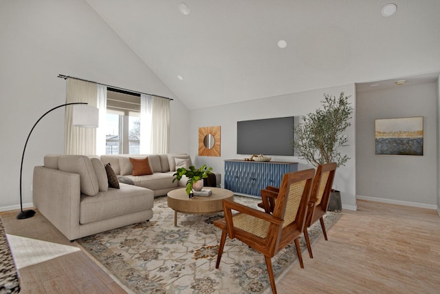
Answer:
[[[327,89],[308,92],[286,94],[282,96],[257,99],[244,103],[234,103],[219,107],[209,107],[191,111],[190,116],[190,155],[195,158],[195,165],[207,164],[215,171],[220,171],[222,185],[224,180],[225,159],[243,159],[247,156],[236,154],[236,122],[239,120],[252,120],[259,118],[275,118],[283,116],[304,116],[322,108],[320,101],[324,94],[339,96],[344,92],[351,95],[350,101],[355,107],[354,85],[344,85]],[[334,185],[341,191],[344,209],[355,209],[355,114],[351,120],[351,127],[347,130],[350,147],[341,149],[351,160],[345,167],[340,167],[336,172]],[[199,127],[221,126],[221,157],[197,156]],[[304,160],[295,156],[271,156],[276,161],[300,162],[299,169],[310,168]]]

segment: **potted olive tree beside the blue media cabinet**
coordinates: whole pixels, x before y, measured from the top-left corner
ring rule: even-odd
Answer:
[[[324,94],[324,101],[321,101],[324,109],[316,109],[316,112],[307,114],[303,122],[294,126],[295,137],[291,143],[296,154],[307,160],[310,165],[318,167],[321,164],[336,162],[340,167],[350,159],[339,151],[340,147],[349,146],[348,136],[344,135],[344,132],[351,125],[349,120],[353,107],[349,103],[350,97],[344,96],[344,92],[341,92],[339,98]],[[336,202],[340,210],[339,191],[335,191],[331,196],[331,202],[332,198],[339,198]]]

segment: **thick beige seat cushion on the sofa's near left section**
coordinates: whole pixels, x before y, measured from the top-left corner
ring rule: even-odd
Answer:
[[[81,195],[80,224],[152,209],[153,202],[153,191],[125,184],[120,184],[120,189],[100,191],[94,197]]]

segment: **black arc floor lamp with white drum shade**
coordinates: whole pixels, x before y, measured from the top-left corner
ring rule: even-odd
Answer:
[[[32,209],[24,210],[23,211],[23,198],[21,196],[21,177],[23,174],[23,159],[25,158],[25,151],[26,146],[28,145],[28,140],[30,138],[30,134],[32,134],[32,131],[36,127],[36,125],[40,122],[41,118],[43,118],[46,114],[54,111],[55,109],[65,107],[67,105],[75,105],[74,106],[74,112],[72,117],[72,125],[76,127],[98,127],[98,108],[91,107],[87,105],[88,103],[85,102],[74,102],[74,103],[66,103],[63,105],[58,105],[57,107],[54,107],[47,111],[45,114],[43,114],[39,120],[36,120],[36,123],[32,127],[32,129],[29,132],[28,138],[26,139],[25,147],[23,148],[23,155],[21,156],[21,166],[20,166],[20,212],[17,214],[17,219],[23,220],[24,218],[32,218],[34,216],[35,211]]]

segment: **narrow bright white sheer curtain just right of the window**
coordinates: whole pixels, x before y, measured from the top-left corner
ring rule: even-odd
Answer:
[[[140,154],[152,154],[151,151],[151,112],[153,96],[140,94]]]

